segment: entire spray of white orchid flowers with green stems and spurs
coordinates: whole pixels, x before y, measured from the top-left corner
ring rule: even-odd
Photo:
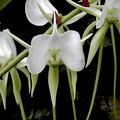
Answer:
[[[109,28],[111,30],[114,54],[115,100],[117,61],[113,25],[119,32],[120,1],[106,0],[104,5],[101,5],[101,0],[82,0],[78,1],[78,3],[73,0],[66,0],[66,2],[74,6],[75,9],[68,13],[68,15],[62,16],[49,0],[26,0],[25,14],[31,24],[35,26],[44,26],[48,22],[51,24],[51,27],[45,33],[38,34],[31,39],[31,45],[12,34],[8,29],[0,32],[0,94],[2,96],[4,108],[6,109],[6,89],[10,74],[15,100],[17,104],[20,105],[23,120],[26,120],[26,116],[20,95],[21,80],[17,70],[22,71],[26,75],[29,93],[33,96],[38,80],[38,74],[44,72],[44,68],[49,66],[48,86],[54,113],[59,84],[59,67],[64,65],[67,70],[70,85],[71,99],[73,101],[72,107],[75,108],[74,100],[76,96],[77,72],[80,72],[90,65],[96,52],[100,48],[96,82],[90,110],[87,116],[87,120],[89,119],[97,91],[104,38]],[[70,30],[68,26],[74,22],[80,21],[80,19],[87,14],[94,16],[96,19],[88,25],[81,37],[78,31]],[[97,29],[97,32],[94,33],[94,35],[91,32],[93,27]],[[85,58],[83,45],[91,38],[88,57]],[[21,52],[19,55],[17,55],[17,48],[14,40],[26,48],[25,51]],[[87,61],[85,61],[85,59]],[[114,108],[116,109],[116,103],[114,103]],[[76,120],[75,109],[73,109],[73,115],[74,120]],[[117,116],[116,110],[115,115]],[[56,119],[55,114],[53,115],[53,119]]]

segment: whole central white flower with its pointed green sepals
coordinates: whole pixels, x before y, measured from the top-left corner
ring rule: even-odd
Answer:
[[[56,26],[56,14],[54,14],[52,34],[40,34],[33,37],[27,59],[27,67],[32,75],[37,75],[44,70],[46,65],[49,65],[48,84],[54,107],[59,82],[58,67],[64,64],[69,68],[74,79],[73,83],[76,83],[77,74],[75,72],[81,71],[85,66],[81,42],[88,39],[90,36],[91,35],[88,35],[81,40],[79,33],[73,30],[59,34]],[[35,81],[33,81],[33,87],[34,84],[36,84],[34,82]],[[76,84],[73,84],[74,96],[75,85]],[[34,88],[32,89],[32,94],[33,91]]]

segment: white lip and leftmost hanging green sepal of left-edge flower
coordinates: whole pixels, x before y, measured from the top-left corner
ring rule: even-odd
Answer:
[[[16,47],[13,39],[4,31],[0,32],[0,69],[7,64],[12,57],[16,56]],[[0,94],[3,99],[4,108],[6,109],[6,88],[8,73],[2,76],[0,80]]]

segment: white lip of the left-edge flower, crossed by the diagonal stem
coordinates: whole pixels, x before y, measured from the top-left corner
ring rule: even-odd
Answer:
[[[15,43],[10,35],[7,32],[10,32],[8,29],[0,32],[0,66],[4,65],[5,63],[9,62],[12,58],[17,56],[16,46]],[[26,60],[24,58],[19,62],[16,67],[24,67],[26,66]]]

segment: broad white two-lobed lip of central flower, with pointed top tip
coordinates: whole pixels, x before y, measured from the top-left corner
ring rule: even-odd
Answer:
[[[59,66],[62,62],[70,70],[80,71],[84,68],[85,58],[79,33],[70,30],[59,34],[54,20],[51,35],[37,35],[32,39],[27,66],[32,74],[38,74],[46,64]]]

